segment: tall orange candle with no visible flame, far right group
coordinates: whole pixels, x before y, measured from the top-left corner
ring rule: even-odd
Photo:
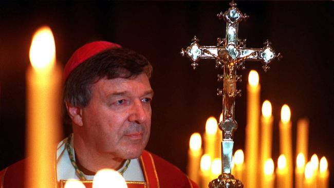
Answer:
[[[308,120],[300,119],[297,123],[296,155],[303,153],[308,158]]]

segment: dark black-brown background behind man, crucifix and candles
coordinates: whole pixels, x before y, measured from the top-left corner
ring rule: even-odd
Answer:
[[[330,1],[240,1],[250,15],[239,24],[247,47],[262,48],[269,39],[283,59],[264,73],[259,62],[238,71],[243,96],[236,101],[235,149],[244,148],[246,86],[251,69],[259,72],[261,103],[273,105],[273,160],[279,156],[278,123],[283,104],[291,108],[293,154],[296,122],[307,117],[309,157],[326,156],[333,186],[333,11]],[[216,14],[229,2],[1,2],[0,3],[0,169],[24,158],[26,82],[31,38],[40,26],[51,27],[57,59],[65,64],[83,44],[107,40],[144,54],[154,67],[152,134],[147,149],[186,171],[189,138],[203,133],[209,116],[219,117],[218,70],[200,61],[195,71],[179,51],[196,35],[201,45],[225,37]],[[70,129],[65,127],[65,134]],[[295,156],[294,156],[295,158]],[[309,159],[308,159],[309,160]]]

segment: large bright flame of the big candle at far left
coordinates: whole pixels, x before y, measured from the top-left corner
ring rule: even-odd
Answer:
[[[49,27],[42,27],[35,32],[30,46],[29,58],[34,69],[49,70],[54,65],[55,44]]]

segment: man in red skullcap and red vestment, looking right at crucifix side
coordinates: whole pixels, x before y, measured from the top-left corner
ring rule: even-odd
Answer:
[[[150,137],[151,64],[118,44],[97,41],[73,53],[64,69],[64,102],[73,134],[57,147],[57,180],[89,180],[117,170],[128,186],[197,187],[178,168],[144,151]],[[0,187],[22,187],[25,160],[0,172]]]

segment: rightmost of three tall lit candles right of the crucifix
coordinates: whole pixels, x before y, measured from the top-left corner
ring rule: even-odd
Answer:
[[[288,182],[287,188],[292,187],[292,136],[291,136],[291,121],[290,121],[290,108],[288,105],[283,105],[281,110],[281,121],[279,123],[280,129],[280,153],[284,154],[287,163],[287,176],[286,180]]]

